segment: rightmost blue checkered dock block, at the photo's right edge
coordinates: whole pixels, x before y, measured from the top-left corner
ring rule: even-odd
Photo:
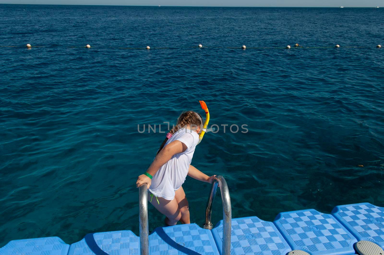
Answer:
[[[339,205],[332,214],[359,240],[384,249],[384,207],[369,203]]]

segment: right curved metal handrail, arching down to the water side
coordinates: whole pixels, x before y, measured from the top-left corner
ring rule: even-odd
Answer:
[[[220,187],[221,199],[223,204],[223,255],[230,255],[231,252],[231,224],[232,224],[232,207],[231,198],[227,182],[224,177],[216,176],[212,182],[211,192],[207,202],[207,210],[205,211],[204,229],[212,229],[212,202],[214,201],[217,186]]]

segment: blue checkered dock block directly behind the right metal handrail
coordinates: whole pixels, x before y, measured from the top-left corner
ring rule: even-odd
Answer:
[[[212,229],[217,248],[222,254],[223,221]],[[272,222],[258,217],[232,219],[231,254],[286,255],[291,248]]]

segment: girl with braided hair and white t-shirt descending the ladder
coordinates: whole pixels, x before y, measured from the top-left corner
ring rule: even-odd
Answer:
[[[215,176],[207,176],[191,166],[203,121],[194,111],[182,113],[177,125],[166,135],[151,166],[136,181],[136,187],[148,184],[149,202],[166,216],[166,225],[190,223],[189,204],[181,185],[185,177],[212,183]],[[153,199],[155,197],[156,199]]]

